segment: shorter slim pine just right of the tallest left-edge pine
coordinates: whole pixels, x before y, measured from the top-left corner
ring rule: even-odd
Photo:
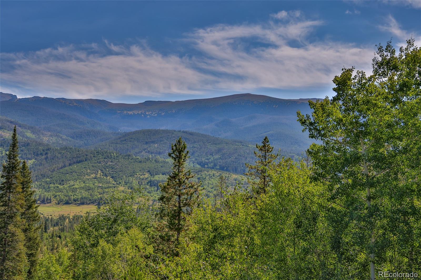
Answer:
[[[35,190],[32,190],[31,172],[26,161],[23,161],[21,166],[21,186],[25,200],[24,211],[21,217],[25,221],[23,232],[25,235],[26,256],[29,262],[28,279],[31,279],[40,251],[41,225],[37,225],[40,221],[40,214],[38,212],[38,206],[35,204]]]

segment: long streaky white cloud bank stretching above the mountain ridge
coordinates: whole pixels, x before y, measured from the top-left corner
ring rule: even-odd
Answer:
[[[163,54],[144,41],[132,45],[65,45],[1,54],[1,91],[19,96],[159,98],[204,92],[327,88],[342,67],[370,71],[374,46],[317,39],[325,24],[301,11],[279,11],[259,24],[219,24],[180,38],[194,54]],[[378,26],[405,40],[390,16]]]

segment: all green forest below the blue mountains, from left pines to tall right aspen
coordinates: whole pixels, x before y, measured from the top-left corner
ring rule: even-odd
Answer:
[[[19,142],[13,127],[2,140],[0,278],[415,279],[421,49],[379,45],[372,66],[342,69],[332,99],[297,112],[314,142],[304,158],[261,137],[244,175],[190,163],[187,132],[166,148],[135,150],[128,137],[88,150]],[[160,157],[136,156],[152,150]],[[49,200],[98,206],[41,217],[36,202]]]

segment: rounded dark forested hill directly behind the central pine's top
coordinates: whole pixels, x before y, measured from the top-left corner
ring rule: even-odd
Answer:
[[[248,142],[166,129],[127,132],[89,148],[131,153],[140,157],[153,155],[166,158],[168,147],[178,137],[182,137],[189,146],[190,164],[242,174],[245,172],[244,163],[253,162],[255,145],[250,145]]]

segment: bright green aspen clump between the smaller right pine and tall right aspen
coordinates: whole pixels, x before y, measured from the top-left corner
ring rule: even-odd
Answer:
[[[276,279],[332,279],[327,250],[333,228],[325,218],[322,185],[310,182],[304,162],[282,159],[270,171],[272,191],[257,201],[258,254]]]

